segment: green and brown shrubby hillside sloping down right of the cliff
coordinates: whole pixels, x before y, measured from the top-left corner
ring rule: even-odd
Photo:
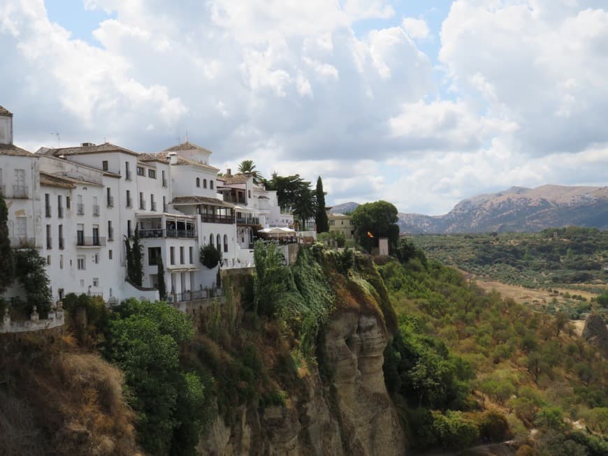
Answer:
[[[384,371],[417,446],[526,441],[534,427],[528,454],[606,454],[608,363],[566,316],[484,293],[406,240],[398,251],[379,267],[399,316]]]

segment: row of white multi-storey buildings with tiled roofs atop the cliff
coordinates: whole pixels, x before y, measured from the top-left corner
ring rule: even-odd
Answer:
[[[220,249],[224,268],[251,266],[256,230],[293,223],[276,192],[250,175],[218,177],[212,152],[189,142],[154,154],[108,142],[31,154],[13,145],[12,132],[13,115],[0,107],[0,191],[11,242],[40,249],[54,300],[67,293],[157,299],[159,258],[171,298],[194,299],[217,277],[217,267],[201,265],[201,247]],[[124,241],[136,229],[142,287],[126,281]]]

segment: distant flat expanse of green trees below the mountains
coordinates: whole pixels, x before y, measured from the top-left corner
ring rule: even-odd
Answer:
[[[505,284],[546,288],[608,284],[608,231],[555,228],[540,233],[421,235],[429,258]]]

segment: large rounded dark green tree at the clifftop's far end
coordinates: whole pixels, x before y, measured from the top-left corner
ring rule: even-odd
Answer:
[[[394,251],[399,238],[399,226],[397,225],[397,208],[386,201],[365,203],[359,205],[352,213],[352,220],[356,226],[356,240],[362,246],[371,244],[378,245],[380,237],[389,239],[389,249]],[[373,235],[371,239],[368,233]]]

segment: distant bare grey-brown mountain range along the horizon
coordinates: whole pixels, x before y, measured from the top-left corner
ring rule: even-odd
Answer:
[[[357,206],[344,203],[331,211],[352,212]],[[400,212],[398,225],[401,233],[412,234],[504,233],[568,225],[608,229],[608,186],[514,186],[462,200],[444,215]]]

